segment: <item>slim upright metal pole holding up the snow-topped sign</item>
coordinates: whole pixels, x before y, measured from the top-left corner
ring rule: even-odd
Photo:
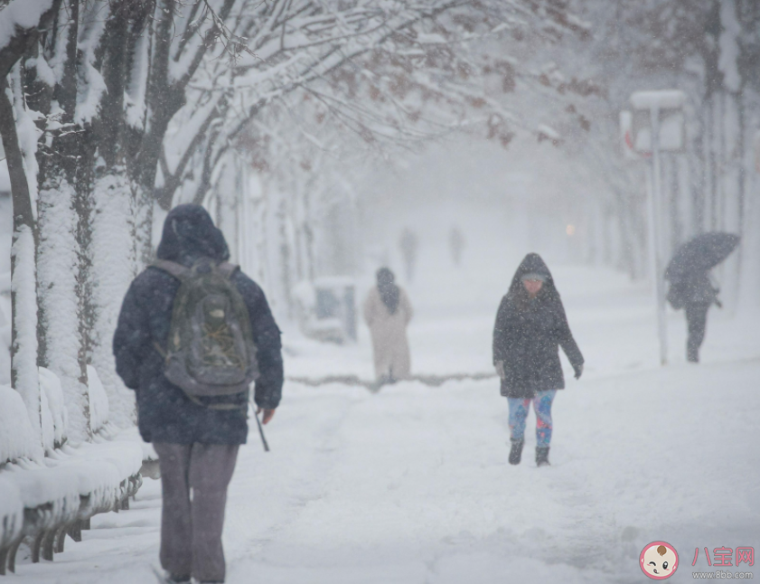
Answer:
[[[651,193],[649,197],[650,253],[654,278],[654,294],[657,306],[657,332],[660,337],[660,363],[668,363],[668,330],[665,322],[665,282],[662,272],[660,209],[661,209],[661,168],[660,168],[660,109],[652,108],[652,170]]]

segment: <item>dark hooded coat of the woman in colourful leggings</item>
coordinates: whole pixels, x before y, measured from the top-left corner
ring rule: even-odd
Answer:
[[[529,297],[521,281],[530,273],[546,278],[535,298]],[[577,371],[583,355],[570,333],[562,300],[543,259],[530,253],[517,268],[493,327],[493,363],[504,363],[502,395],[532,398],[536,391],[564,389],[558,346]]]

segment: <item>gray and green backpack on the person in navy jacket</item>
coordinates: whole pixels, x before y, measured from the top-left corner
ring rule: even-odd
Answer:
[[[239,408],[199,398],[249,391],[258,377],[248,306],[231,281],[238,266],[205,259],[192,268],[159,259],[153,264],[180,280],[164,356],[166,379],[195,403],[214,410]]]

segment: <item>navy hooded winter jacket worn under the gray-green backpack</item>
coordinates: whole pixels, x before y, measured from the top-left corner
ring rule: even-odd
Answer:
[[[189,267],[202,258],[228,259],[230,253],[208,212],[199,205],[180,205],[166,217],[157,255]],[[277,408],[283,384],[279,329],[261,288],[239,270],[232,280],[248,306],[258,347],[260,376],[254,400],[261,408]],[[113,344],[117,373],[136,391],[140,434],[146,442],[244,444],[248,436],[245,396],[204,398],[232,400],[242,406],[210,410],[193,403],[164,377],[164,360],[155,344],[167,344],[179,287],[179,280],[165,271],[146,268],[129,287],[118,318]]]

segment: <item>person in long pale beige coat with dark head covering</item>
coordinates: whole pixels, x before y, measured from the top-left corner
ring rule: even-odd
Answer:
[[[377,380],[393,383],[408,377],[411,369],[407,325],[412,306],[389,268],[380,268],[377,280],[364,302],[364,320],[372,336]]]

